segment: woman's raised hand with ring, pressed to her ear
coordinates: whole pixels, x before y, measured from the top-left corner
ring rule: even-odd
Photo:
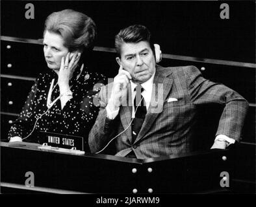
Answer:
[[[75,52],[70,61],[70,52],[68,52],[66,59],[61,59],[60,71],[58,72],[58,86],[60,87],[60,94],[70,91],[70,78],[73,75],[73,71],[77,67],[81,57],[80,52]]]

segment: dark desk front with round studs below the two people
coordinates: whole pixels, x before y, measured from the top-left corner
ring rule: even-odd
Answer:
[[[25,186],[25,173],[32,171],[34,186],[45,192],[211,193],[229,190],[220,186],[222,171],[232,176],[229,150],[138,160],[90,153],[67,155],[41,151],[38,144],[22,144],[14,147],[1,142],[4,187]]]

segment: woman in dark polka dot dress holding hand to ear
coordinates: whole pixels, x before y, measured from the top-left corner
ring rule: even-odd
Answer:
[[[80,12],[62,10],[47,17],[44,56],[49,71],[40,74],[32,86],[10,128],[10,142],[38,142],[34,134],[38,131],[84,136],[86,140],[98,113],[94,96],[106,83],[102,74],[87,72],[83,61],[95,36],[94,21]]]

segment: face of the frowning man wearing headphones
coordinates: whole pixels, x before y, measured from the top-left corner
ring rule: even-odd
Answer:
[[[121,59],[117,58],[117,61],[136,83],[146,82],[155,72],[155,56],[147,41],[123,43]]]

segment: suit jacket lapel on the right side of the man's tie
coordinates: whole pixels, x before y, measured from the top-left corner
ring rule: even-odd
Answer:
[[[166,100],[170,90],[172,89],[173,78],[168,77],[171,73],[172,71],[164,73],[162,67],[157,66],[155,78],[153,80],[153,90],[149,109],[147,110],[145,120],[135,142],[144,138],[144,135],[146,135],[147,131],[151,129],[151,126],[159,113],[162,113],[164,100]]]

